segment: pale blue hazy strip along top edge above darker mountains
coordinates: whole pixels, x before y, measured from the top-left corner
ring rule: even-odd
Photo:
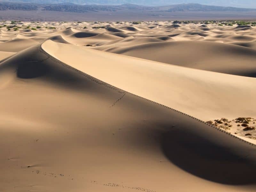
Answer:
[[[162,6],[173,4],[197,3],[213,6],[232,6],[241,8],[256,8],[255,0],[4,0],[5,2],[19,3],[40,3],[40,4],[102,4],[102,5],[120,5],[120,4],[137,4],[145,6]]]

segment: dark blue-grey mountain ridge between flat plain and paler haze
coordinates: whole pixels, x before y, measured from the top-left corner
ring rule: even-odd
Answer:
[[[236,8],[236,7],[222,7],[222,6],[211,6],[202,4],[176,4],[168,6],[142,6],[135,4],[122,4],[122,5],[79,5],[72,3],[61,3],[61,4],[33,4],[33,3],[12,3],[3,2],[0,3],[0,10],[42,10],[42,11],[59,11],[59,12],[99,12],[99,11],[121,11],[121,10],[132,10],[132,11],[154,11],[154,12],[198,12],[198,11],[230,11],[230,12],[249,12],[255,11],[256,9]]]

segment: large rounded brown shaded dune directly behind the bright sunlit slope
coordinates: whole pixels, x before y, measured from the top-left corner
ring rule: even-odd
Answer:
[[[254,62],[256,50],[233,44],[208,41],[172,41],[126,47],[108,45],[94,49],[189,68],[256,77]]]

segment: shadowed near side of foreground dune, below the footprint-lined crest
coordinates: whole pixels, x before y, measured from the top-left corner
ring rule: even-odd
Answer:
[[[5,60],[0,64],[0,75],[10,79],[0,86],[4,92],[0,99],[5,100],[0,107],[5,114],[1,115],[36,120],[45,127],[34,124],[31,129],[24,122],[1,121],[0,167],[6,172],[1,188],[5,191],[13,188],[6,182],[13,175],[17,189],[33,185],[42,191],[103,190],[111,187],[103,185],[107,180],[125,181],[125,189],[143,186],[149,192],[168,191],[170,185],[186,191],[184,180],[189,190],[255,187],[255,146],[106,84],[56,60],[42,48],[35,46]],[[18,131],[22,129],[30,132]],[[36,174],[37,170],[45,176],[39,171]],[[61,172],[62,180],[48,176],[51,172]],[[70,180],[64,180],[66,175],[71,175]],[[99,183],[92,184],[92,178]]]

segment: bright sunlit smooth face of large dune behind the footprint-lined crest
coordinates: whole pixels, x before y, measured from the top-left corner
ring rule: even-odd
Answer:
[[[42,48],[88,75],[202,120],[256,115],[253,111],[255,78],[173,66],[52,41],[44,42]],[[238,90],[241,94],[237,94]],[[238,106],[241,100],[244,104]]]

